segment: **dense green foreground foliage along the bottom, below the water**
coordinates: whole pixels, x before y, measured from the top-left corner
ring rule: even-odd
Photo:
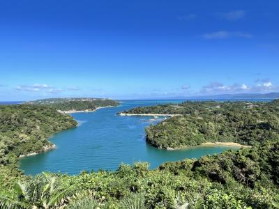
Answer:
[[[0,206],[276,208],[278,173],[279,139],[274,139],[254,148],[167,162],[156,170],[149,170],[148,163],[136,163],[121,164],[115,172],[78,176],[43,173],[1,194]]]

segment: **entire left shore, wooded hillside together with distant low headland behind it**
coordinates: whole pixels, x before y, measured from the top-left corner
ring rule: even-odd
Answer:
[[[0,186],[13,182],[9,173],[22,178],[22,171],[17,169],[19,157],[54,149],[55,144],[48,141],[52,134],[77,127],[77,121],[64,111],[96,111],[118,104],[100,98],[51,98],[0,105]]]

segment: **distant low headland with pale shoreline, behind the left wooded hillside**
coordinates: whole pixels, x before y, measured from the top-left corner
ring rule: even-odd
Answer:
[[[94,110],[97,107],[119,105],[119,102],[117,101],[99,98],[50,98],[44,100],[35,100],[28,103],[48,105],[61,111],[84,111],[86,109]]]

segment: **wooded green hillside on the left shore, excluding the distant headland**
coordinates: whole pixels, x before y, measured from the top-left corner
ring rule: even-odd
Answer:
[[[52,144],[51,134],[75,127],[71,116],[52,107],[32,104],[0,106],[0,187],[21,176],[17,157],[40,153]]]

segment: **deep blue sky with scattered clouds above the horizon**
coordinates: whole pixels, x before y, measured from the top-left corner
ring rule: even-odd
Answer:
[[[279,91],[279,1],[0,1],[0,100]]]

